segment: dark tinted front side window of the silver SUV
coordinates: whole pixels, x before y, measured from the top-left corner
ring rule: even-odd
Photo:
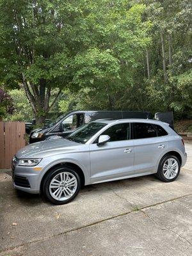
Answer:
[[[129,124],[115,124],[100,135],[109,135],[110,141],[129,140]]]

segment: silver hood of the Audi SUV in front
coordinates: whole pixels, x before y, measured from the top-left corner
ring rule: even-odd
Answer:
[[[33,157],[43,158],[56,154],[84,151],[87,146],[88,145],[65,140],[63,138],[56,140],[44,140],[21,148],[17,152],[16,157],[19,159]]]

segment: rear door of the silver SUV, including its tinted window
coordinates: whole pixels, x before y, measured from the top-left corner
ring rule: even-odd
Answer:
[[[159,127],[159,131],[157,131]],[[166,135],[163,127],[142,122],[132,123],[134,136],[134,172],[154,173],[162,152],[167,147]]]

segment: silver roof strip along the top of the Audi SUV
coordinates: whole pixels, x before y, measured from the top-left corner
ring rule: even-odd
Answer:
[[[166,124],[167,123],[161,122],[159,120],[154,120],[154,119],[141,119],[141,118],[127,118],[127,119],[118,119],[118,120],[110,120],[110,119],[97,119],[93,122],[98,122],[98,123],[104,123],[104,124],[116,124],[116,123],[125,123],[125,122],[140,122],[140,123],[152,123],[152,124]]]

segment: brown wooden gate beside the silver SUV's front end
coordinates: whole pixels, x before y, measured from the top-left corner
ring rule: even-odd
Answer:
[[[26,145],[24,122],[0,122],[0,169],[11,168],[12,157]]]

